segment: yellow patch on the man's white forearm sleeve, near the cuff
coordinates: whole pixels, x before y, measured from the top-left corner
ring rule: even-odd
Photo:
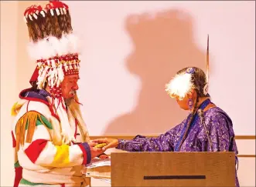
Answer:
[[[56,154],[53,159],[53,165],[56,167],[62,167],[70,163],[70,146],[60,145],[56,147]]]

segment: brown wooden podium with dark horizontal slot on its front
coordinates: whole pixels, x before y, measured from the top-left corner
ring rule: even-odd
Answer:
[[[111,152],[111,187],[234,187],[234,152]]]

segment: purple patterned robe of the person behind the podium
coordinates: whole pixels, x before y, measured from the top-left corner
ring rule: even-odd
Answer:
[[[220,108],[214,107],[204,113],[204,120],[209,131],[210,141],[207,139],[207,132],[200,120],[195,119],[194,125],[189,129],[186,139],[182,143],[179,152],[235,152],[237,164],[237,145],[234,140],[233,124],[229,116]],[[186,124],[184,119],[179,125],[170,129],[157,138],[146,138],[137,135],[131,140],[118,140],[117,149],[128,152],[175,152],[175,148]],[[236,169],[236,187],[239,187]]]

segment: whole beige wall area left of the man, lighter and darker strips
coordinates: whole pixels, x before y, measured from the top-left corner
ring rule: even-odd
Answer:
[[[26,52],[29,37],[22,18],[30,5],[29,1],[1,1],[1,186],[12,186],[14,179],[12,105],[19,99],[19,92],[29,88],[35,68]]]

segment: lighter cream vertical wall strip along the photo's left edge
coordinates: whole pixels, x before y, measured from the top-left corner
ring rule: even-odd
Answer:
[[[18,98],[17,12],[18,2],[1,2],[1,186],[12,186],[14,175],[10,109]]]

